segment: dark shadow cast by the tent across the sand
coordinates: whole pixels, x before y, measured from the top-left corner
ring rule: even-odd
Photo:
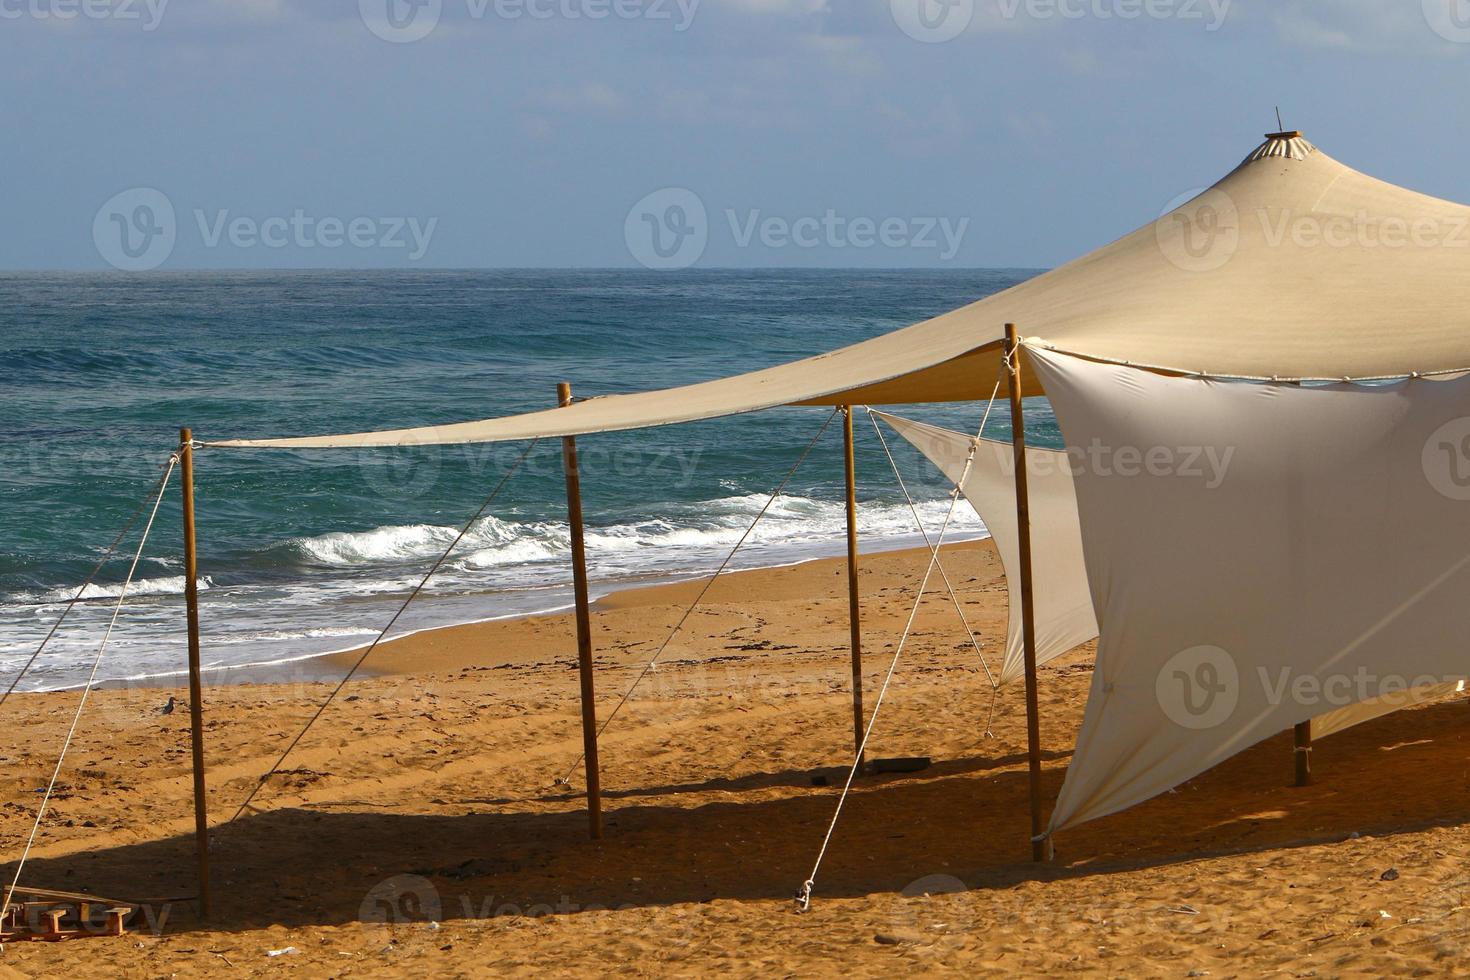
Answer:
[[[1470,821],[1464,708],[1457,701],[1399,711],[1319,743],[1319,779],[1304,789],[1288,786],[1291,733],[1283,733],[1176,792],[1061,835],[1051,865],[1028,860],[1023,765],[997,771],[983,760],[957,761],[917,777],[866,779],[844,813],[817,896],[900,893],[933,874],[956,876],[972,889],[1004,887],[1326,843],[1354,832],[1394,835]],[[1047,770],[1050,796],[1063,774],[1060,765]],[[776,793],[798,785],[792,776],[770,774],[748,789]],[[703,789],[728,788],[728,780],[713,780]],[[444,920],[789,899],[810,868],[836,793],[807,789],[703,805],[614,807],[600,843],[587,840],[587,818],[575,801],[522,813],[359,807],[256,814],[213,833],[212,927],[360,921],[395,876],[432,883],[435,917]],[[176,836],[32,858],[26,879],[103,895],[166,895],[188,880],[191,860],[193,837]],[[194,929],[188,902],[175,902],[169,914],[168,932]]]

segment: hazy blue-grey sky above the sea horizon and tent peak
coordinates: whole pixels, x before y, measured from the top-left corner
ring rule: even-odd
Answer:
[[[1470,201],[1470,0],[0,0],[0,269],[1050,267],[1285,125]]]

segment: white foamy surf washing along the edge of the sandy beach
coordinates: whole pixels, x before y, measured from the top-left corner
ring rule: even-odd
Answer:
[[[766,507],[764,494],[669,504],[656,519],[613,522],[588,529],[594,592],[629,585],[672,582],[706,574],[745,533]],[[950,501],[917,507],[933,538],[950,513]],[[806,497],[778,498],[745,539],[732,569],[775,567],[842,552],[845,513],[841,502]],[[863,547],[922,547],[907,504],[858,505]],[[976,538],[983,525],[967,504],[954,508],[948,541]],[[307,566],[288,580],[232,582],[204,601],[204,648],[212,669],[285,664],[304,657],[351,649],[375,636],[416,588],[429,563],[459,535],[437,525],[382,526],[295,538],[272,548]],[[562,608],[569,601],[567,527],[557,522],[487,517],[465,535],[450,561],[434,576],[422,601],[397,621],[392,635],[453,623],[484,621]],[[204,579],[201,588],[212,582]],[[182,576],[141,579],[129,595],[176,595]],[[90,599],[116,598],[119,586],[96,586]],[[15,669],[46,635],[44,623],[60,614],[75,586],[16,599],[35,602],[28,624],[0,630],[0,670]],[[165,608],[168,607],[168,608]],[[110,619],[110,604],[78,607],[66,629],[49,645],[24,683],[25,689],[72,686]],[[172,604],[129,605],[103,666],[106,679],[172,677],[185,661],[182,616]]]

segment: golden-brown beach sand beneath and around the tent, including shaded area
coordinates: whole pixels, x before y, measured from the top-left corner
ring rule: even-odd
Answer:
[[[869,705],[923,560],[864,561]],[[960,545],[945,564],[994,669],[1005,616],[995,552]],[[598,605],[604,717],[692,588]],[[1270,739],[1063,835],[1055,861],[1036,865],[1022,688],[1001,692],[988,736],[991,688],[942,592],[923,604],[870,748],[933,765],[858,780],[798,914],[791,896],[851,761],[845,604],[838,561],[717,582],[601,742],[601,842],[587,836],[579,771],[556,785],[581,752],[566,616],[381,648],[378,674],[348,685],[232,823],[331,685],[210,689],[207,924],[188,901],[162,901],[194,890],[188,714],[159,714],[169,691],[97,692],[24,880],[159,899],[146,912],[163,927],[13,943],[0,976],[1227,977],[1470,964],[1463,704],[1323,741],[1305,789],[1289,786],[1289,735]],[[1089,658],[1080,649],[1041,671],[1048,804]],[[4,705],[6,880],[75,699]],[[268,955],[282,949],[294,952]]]

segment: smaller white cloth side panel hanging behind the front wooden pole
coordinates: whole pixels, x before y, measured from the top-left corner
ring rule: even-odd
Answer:
[[[1020,532],[1016,523],[1016,457],[1011,444],[976,439],[963,432],[883,411],[873,414],[960,485],[964,498],[995,539],[1005,579],[1014,580],[1020,569]],[[967,460],[969,473],[966,473]],[[1092,614],[1092,592],[1088,591],[1088,573],[1082,561],[1078,497],[1072,485],[1067,454],[1026,447],[1026,475],[1032,520],[1036,663],[1044,664],[1097,636],[1098,623]],[[1020,589],[1010,589],[1008,601],[1010,617],[1001,683],[1022,677],[1026,670],[1022,649]]]

